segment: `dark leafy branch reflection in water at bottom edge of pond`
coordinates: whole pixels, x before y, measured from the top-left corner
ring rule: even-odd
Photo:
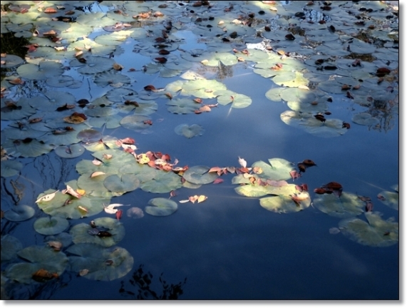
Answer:
[[[129,279],[128,281],[131,286],[134,287],[134,291],[125,289],[125,282],[123,280],[120,282],[119,293],[124,297],[132,297],[133,299],[178,299],[178,297],[182,295],[182,287],[187,282],[186,277],[183,282],[168,284],[168,282],[163,279],[164,273],[161,273],[158,280],[163,289],[158,293],[155,292],[151,286],[151,284],[153,284],[153,274],[150,272],[145,273],[143,271],[143,266],[144,265],[140,265],[138,270],[134,271],[132,276],[133,279]]]

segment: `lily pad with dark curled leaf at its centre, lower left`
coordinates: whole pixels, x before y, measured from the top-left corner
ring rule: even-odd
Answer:
[[[121,223],[119,220],[111,217],[101,217],[96,218],[96,220],[93,221],[96,225],[94,228],[88,223],[74,225],[71,228],[69,233],[72,235],[72,240],[75,244],[93,243],[103,247],[110,247],[123,240],[125,229],[123,227],[123,223]],[[103,234],[103,232],[108,233]]]

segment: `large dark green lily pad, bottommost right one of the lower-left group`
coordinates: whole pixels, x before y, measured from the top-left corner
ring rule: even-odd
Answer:
[[[81,243],[69,247],[67,252],[75,255],[69,257],[71,270],[77,273],[86,270],[82,275],[86,279],[110,281],[125,276],[133,268],[133,257],[121,247]]]

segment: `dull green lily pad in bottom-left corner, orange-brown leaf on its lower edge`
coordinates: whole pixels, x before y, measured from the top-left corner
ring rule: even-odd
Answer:
[[[6,269],[6,277],[24,284],[31,284],[34,273],[46,270],[57,277],[65,271],[68,257],[63,252],[54,252],[49,247],[30,246],[20,250],[17,255],[29,262],[20,262]]]

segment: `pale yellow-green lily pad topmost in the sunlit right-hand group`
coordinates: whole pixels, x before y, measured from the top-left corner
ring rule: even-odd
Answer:
[[[252,168],[254,167],[262,168],[263,172],[259,173],[259,178],[266,180],[288,180],[291,178],[289,173],[294,170],[292,163],[283,158],[270,158],[269,164],[259,160],[253,163]]]

